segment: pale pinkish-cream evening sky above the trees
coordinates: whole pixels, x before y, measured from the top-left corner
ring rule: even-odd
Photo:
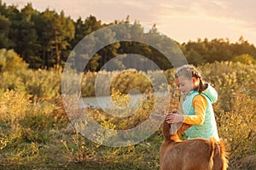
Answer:
[[[229,38],[237,42],[244,37],[256,45],[255,0],[3,0],[7,5],[44,11],[64,11],[73,20],[93,15],[102,23],[114,20],[139,21],[142,26],[156,25],[160,33],[177,42],[197,41],[198,38]]]

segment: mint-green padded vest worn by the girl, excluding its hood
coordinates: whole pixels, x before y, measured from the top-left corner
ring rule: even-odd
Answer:
[[[195,95],[198,94],[199,93],[197,91],[190,91],[190,93],[186,96],[186,99],[183,102],[183,112],[185,115],[195,115],[193,99],[195,98]],[[188,139],[210,139],[210,137],[213,136],[215,139],[219,140],[211,100],[207,97],[206,94],[201,93],[201,95],[207,99],[205,121],[201,125],[193,125],[192,127],[189,127],[185,131],[185,134],[187,135]]]

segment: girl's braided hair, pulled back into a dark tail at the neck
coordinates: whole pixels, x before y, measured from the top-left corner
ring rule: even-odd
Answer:
[[[195,77],[196,79],[199,79],[199,87],[197,88],[197,91],[201,93],[206,89],[202,79],[201,79],[201,73],[195,69],[193,65],[183,65],[179,67],[174,75],[175,78],[178,77],[185,77],[185,78],[192,78]]]

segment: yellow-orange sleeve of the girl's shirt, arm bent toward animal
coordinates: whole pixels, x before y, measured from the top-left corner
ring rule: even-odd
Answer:
[[[190,125],[200,125],[205,121],[207,99],[201,94],[198,94],[193,99],[193,106],[195,108],[195,115],[183,115],[183,122]]]

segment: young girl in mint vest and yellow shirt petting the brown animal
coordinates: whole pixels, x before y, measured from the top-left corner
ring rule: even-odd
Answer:
[[[212,109],[218,94],[210,84],[203,83],[201,74],[192,65],[183,65],[174,75],[175,82],[184,96],[183,114],[169,114],[166,122],[169,124],[184,122],[192,127],[185,131],[188,139],[218,138],[217,125]]]

